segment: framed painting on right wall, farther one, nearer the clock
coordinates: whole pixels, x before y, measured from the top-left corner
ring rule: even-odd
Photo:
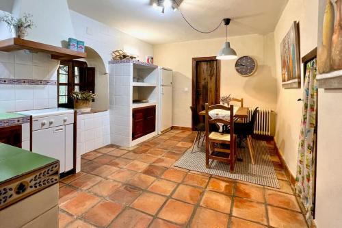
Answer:
[[[300,88],[300,47],[298,23],[291,28],[280,43],[281,75],[283,88]]]

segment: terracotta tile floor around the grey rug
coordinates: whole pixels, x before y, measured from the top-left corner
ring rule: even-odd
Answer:
[[[279,190],[173,167],[194,137],[172,130],[83,155],[60,181],[60,227],[307,227],[271,144]]]

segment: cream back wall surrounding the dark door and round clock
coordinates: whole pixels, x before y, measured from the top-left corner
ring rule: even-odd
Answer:
[[[191,127],[189,106],[192,103],[192,58],[215,56],[225,38],[193,40],[155,46],[155,64],[172,68],[172,125]],[[231,47],[239,56],[251,55],[259,64],[257,73],[241,77],[235,71],[235,61],[221,62],[221,95],[244,97],[247,107],[276,108],[276,78],[274,77],[273,34],[230,37]],[[188,88],[185,91],[184,88]]]

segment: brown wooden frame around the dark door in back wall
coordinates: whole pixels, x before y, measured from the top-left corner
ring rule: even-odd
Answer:
[[[220,103],[220,97],[221,97],[221,60],[218,60],[216,56],[209,56],[209,57],[198,57],[198,58],[192,58],[192,106],[196,104],[196,63],[202,62],[202,61],[212,61],[216,60],[216,97],[215,97],[215,103]],[[192,121],[192,130],[194,131],[194,122]]]

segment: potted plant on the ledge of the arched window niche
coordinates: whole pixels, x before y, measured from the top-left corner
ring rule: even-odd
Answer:
[[[92,109],[92,100],[96,97],[96,94],[92,91],[73,91],[70,95],[74,100],[74,109],[80,112],[90,112]]]

